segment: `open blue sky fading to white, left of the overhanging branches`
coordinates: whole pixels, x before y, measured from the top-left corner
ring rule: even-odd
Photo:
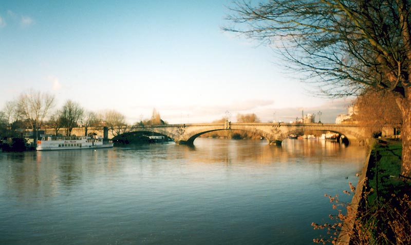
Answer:
[[[0,108],[32,88],[55,94],[55,109],[72,99],[128,123],[153,108],[177,124],[346,112],[348,100],[312,97],[270,48],[221,31],[230,3],[0,0]]]

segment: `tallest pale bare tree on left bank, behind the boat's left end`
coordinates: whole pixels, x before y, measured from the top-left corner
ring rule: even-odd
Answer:
[[[37,144],[38,130],[43,124],[47,112],[54,106],[54,95],[40,91],[29,90],[17,99],[19,113],[28,120],[35,133],[34,144]]]

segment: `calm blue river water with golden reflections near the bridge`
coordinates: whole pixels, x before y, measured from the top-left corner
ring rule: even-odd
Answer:
[[[366,154],[321,140],[194,144],[0,152],[0,244],[312,244],[311,222],[335,212],[324,194],[357,183]]]

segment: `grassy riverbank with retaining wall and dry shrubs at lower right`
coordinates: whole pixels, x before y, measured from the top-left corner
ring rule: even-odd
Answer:
[[[337,244],[411,244],[411,183],[400,177],[401,150],[401,142],[380,141],[370,151]]]

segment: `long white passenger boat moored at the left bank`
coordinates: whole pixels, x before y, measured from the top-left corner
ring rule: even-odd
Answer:
[[[36,150],[53,151],[53,150],[74,150],[74,149],[97,149],[113,147],[113,142],[103,142],[101,137],[86,136],[48,136],[44,135],[41,140],[37,141]]]

